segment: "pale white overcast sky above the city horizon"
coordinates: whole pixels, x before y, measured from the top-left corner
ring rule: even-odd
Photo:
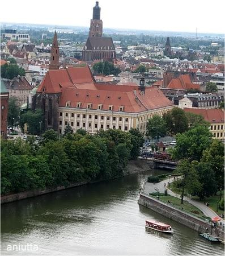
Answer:
[[[90,26],[95,0],[1,1],[0,22]],[[16,7],[18,6],[18,8]],[[224,0],[99,0],[103,28],[224,34]],[[9,9],[10,8],[10,9]]]

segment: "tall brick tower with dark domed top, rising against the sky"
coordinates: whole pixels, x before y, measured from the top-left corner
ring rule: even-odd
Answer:
[[[93,18],[89,29],[89,37],[100,37],[103,35],[103,21],[100,19],[101,8],[99,2],[95,3],[93,8]]]

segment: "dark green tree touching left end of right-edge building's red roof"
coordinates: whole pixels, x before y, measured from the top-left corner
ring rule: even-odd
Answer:
[[[171,134],[184,133],[184,131],[188,130],[188,119],[184,110],[180,108],[173,108],[171,111],[165,113],[163,119]]]

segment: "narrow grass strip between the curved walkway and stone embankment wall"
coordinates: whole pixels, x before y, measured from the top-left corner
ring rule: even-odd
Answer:
[[[156,197],[154,195],[154,197]],[[161,201],[163,201],[164,203],[168,203],[168,200],[172,203],[172,205],[174,205],[175,207],[181,209],[183,208],[184,210],[186,210],[187,212],[193,214],[194,216],[200,217],[200,218],[207,218],[203,212],[201,212],[201,210],[199,210],[197,207],[195,207],[192,204],[189,204],[188,202],[184,201],[184,204],[181,204],[181,199],[174,197],[174,196],[165,196],[165,195],[160,195],[159,194],[159,199]],[[196,213],[194,213],[193,211],[195,211]],[[198,212],[198,214],[197,214]]]

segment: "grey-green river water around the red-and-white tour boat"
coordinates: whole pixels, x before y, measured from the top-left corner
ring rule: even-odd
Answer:
[[[138,205],[148,175],[2,205],[2,255],[223,255],[222,244],[211,245],[194,230]],[[146,219],[171,224],[175,232],[146,231]]]

